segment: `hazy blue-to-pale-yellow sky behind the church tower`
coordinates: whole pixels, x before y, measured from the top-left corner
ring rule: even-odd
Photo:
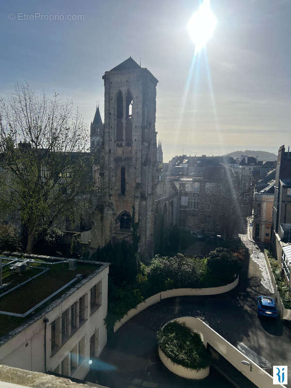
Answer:
[[[186,26],[198,5],[2,1],[0,95],[27,81],[36,92],[44,87],[49,96],[73,99],[89,123],[97,101],[103,118],[104,72],[129,55],[141,57],[159,80],[156,130],[164,161],[182,152],[277,153],[291,143],[291,0],[211,0],[218,24],[191,77],[194,45]],[[49,22],[49,15],[83,20]]]

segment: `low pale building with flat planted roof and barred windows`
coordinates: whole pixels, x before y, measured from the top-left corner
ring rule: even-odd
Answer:
[[[109,263],[0,259],[0,364],[83,379],[107,342]]]

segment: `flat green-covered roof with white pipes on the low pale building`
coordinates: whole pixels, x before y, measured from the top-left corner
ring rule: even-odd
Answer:
[[[52,309],[53,301],[54,305],[58,304],[56,299],[64,294],[69,296],[109,265],[76,260],[76,269],[70,270],[70,259],[44,258],[0,256],[3,284],[0,286],[0,337],[39,313],[42,315],[48,306]]]

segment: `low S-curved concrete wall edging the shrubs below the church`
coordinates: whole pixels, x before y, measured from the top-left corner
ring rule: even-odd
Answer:
[[[178,288],[174,290],[159,292],[158,294],[152,295],[149,298],[147,298],[144,302],[138,304],[136,308],[131,308],[120,321],[114,324],[114,328],[113,328],[114,333],[124,323],[129,321],[129,319],[134,317],[136,314],[145,310],[147,307],[160,302],[162,299],[173,298],[175,296],[197,296],[197,295],[203,296],[203,295],[222,294],[224,292],[228,292],[234,289],[238,285],[238,282],[239,282],[239,276],[232,283],[226,284],[225,286],[210,287],[210,288]]]

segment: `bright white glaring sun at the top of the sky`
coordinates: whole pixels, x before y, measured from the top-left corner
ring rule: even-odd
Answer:
[[[195,52],[200,51],[213,36],[217,19],[210,9],[210,0],[203,0],[188,23],[188,31],[195,44]]]

